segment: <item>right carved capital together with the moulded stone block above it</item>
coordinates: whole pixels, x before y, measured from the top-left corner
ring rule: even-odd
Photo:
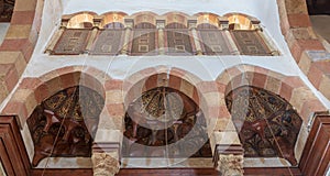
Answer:
[[[238,144],[217,144],[215,166],[221,176],[243,176],[244,150]]]

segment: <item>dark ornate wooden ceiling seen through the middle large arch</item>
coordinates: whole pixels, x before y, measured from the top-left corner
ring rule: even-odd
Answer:
[[[144,92],[129,106],[124,121],[124,156],[211,157],[204,114],[174,89]]]

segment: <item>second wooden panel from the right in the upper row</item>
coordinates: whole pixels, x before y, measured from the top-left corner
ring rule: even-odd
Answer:
[[[223,32],[219,30],[199,30],[202,42],[202,52],[206,55],[230,55],[230,51],[223,37]]]

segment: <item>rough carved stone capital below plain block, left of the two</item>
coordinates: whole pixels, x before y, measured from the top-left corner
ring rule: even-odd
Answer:
[[[120,169],[117,151],[91,155],[94,176],[112,176]]]

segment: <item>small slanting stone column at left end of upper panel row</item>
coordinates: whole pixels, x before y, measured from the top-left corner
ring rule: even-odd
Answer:
[[[57,41],[59,40],[59,37],[62,36],[62,34],[66,30],[69,20],[70,20],[70,18],[68,15],[63,15],[62,16],[59,30],[57,30],[54,33],[53,37],[51,38],[50,44],[46,47],[45,53],[52,54],[52,52],[54,51],[54,47],[55,47]]]

